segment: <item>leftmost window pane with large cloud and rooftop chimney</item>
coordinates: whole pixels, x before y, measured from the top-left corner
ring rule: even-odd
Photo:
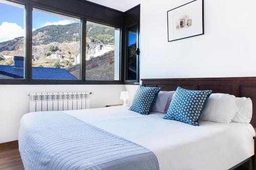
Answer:
[[[0,79],[24,79],[24,5],[0,0]]]

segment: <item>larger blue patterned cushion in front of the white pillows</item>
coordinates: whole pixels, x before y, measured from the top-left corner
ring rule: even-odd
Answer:
[[[197,120],[211,93],[212,90],[186,90],[178,87],[164,118],[199,126]]]

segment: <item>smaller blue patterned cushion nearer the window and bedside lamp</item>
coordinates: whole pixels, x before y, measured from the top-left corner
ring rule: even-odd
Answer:
[[[129,110],[140,114],[150,113],[161,88],[139,86]]]

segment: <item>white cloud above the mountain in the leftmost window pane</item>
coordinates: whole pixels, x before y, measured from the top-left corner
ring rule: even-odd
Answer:
[[[0,25],[0,42],[24,36],[24,29],[12,22],[2,22]]]

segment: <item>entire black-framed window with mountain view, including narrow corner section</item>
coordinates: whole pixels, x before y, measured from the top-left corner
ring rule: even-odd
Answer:
[[[139,6],[120,14],[87,2],[73,5],[81,8],[0,0],[0,84],[139,81]]]

